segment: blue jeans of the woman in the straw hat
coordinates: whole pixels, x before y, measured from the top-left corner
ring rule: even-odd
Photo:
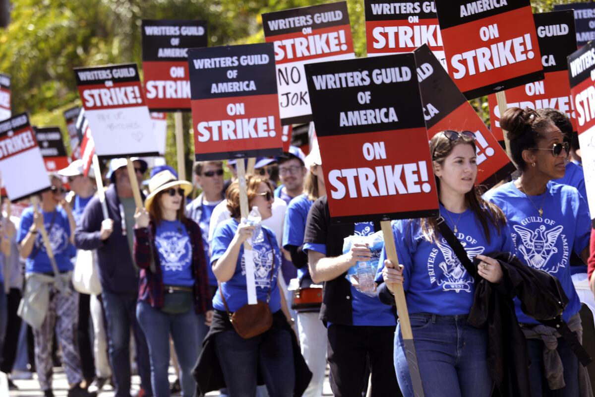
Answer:
[[[205,315],[196,314],[194,308],[183,314],[167,314],[146,302],[139,302],[136,305],[136,318],[149,345],[151,383],[155,397],[170,395],[170,381],[167,378],[170,333],[180,365],[182,396],[192,397],[196,391],[192,368],[201,354],[202,340],[209,330],[205,325]]]

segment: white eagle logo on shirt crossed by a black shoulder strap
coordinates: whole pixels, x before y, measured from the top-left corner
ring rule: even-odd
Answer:
[[[461,234],[461,233],[459,233]],[[467,247],[467,242],[461,241],[461,245],[465,248],[465,252],[467,253],[467,257],[469,260],[473,261],[477,255],[483,254],[486,248],[482,246],[477,247]],[[430,282],[436,282],[437,285],[442,286],[442,289],[445,291],[455,291],[459,293],[461,291],[471,292],[471,285],[473,284],[473,279],[469,277],[467,270],[459,261],[459,258],[456,256],[455,252],[450,248],[446,240],[442,239],[441,243],[438,245],[442,255],[444,257],[444,261],[440,262],[438,267],[442,271],[441,275],[436,274],[436,270],[434,270],[434,262],[428,262],[428,273],[430,274]],[[437,254],[437,250],[433,249],[433,252],[430,254],[432,256]],[[436,253],[434,253],[436,251]]]

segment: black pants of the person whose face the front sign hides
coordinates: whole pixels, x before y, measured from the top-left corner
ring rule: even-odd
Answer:
[[[372,373],[372,397],[402,396],[393,364],[394,329],[339,324],[328,327],[327,358],[335,396],[361,397],[367,365]]]

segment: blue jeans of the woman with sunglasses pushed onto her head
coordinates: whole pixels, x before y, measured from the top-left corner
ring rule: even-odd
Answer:
[[[467,323],[466,315],[409,315],[425,397],[489,397],[487,330]],[[405,397],[413,397],[400,324],[394,339],[394,369]]]

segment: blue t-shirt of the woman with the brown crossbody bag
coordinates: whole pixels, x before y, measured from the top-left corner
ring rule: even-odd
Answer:
[[[239,223],[231,218],[220,223],[215,229],[211,241],[212,255],[211,264],[226,252],[228,246],[236,235]],[[271,299],[268,302],[271,312],[281,309],[281,296],[277,286],[277,276],[281,264],[281,254],[277,245],[277,237],[273,230],[266,226],[261,226],[260,236],[252,240],[252,255],[254,260],[254,279],[256,283],[256,298],[259,301],[266,302],[269,290]],[[274,264],[273,280],[271,285],[271,265]],[[233,277],[227,282],[221,283],[221,292],[225,296],[227,305],[231,312],[238,310],[245,304],[248,304],[248,293],[246,292],[246,265],[244,261],[244,246],[240,247],[240,253],[237,256],[236,270]],[[213,307],[217,310],[226,310],[219,290],[213,297]]]

